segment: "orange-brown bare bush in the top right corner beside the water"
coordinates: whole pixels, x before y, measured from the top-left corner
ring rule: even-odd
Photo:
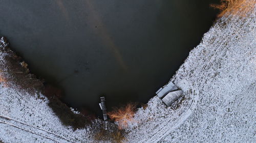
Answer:
[[[210,6],[221,10],[218,17],[225,14],[245,17],[247,13],[253,11],[255,4],[255,0],[221,0],[220,5],[211,4]]]

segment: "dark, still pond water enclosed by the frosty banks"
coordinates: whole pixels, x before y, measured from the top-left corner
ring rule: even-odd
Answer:
[[[71,106],[99,112],[146,103],[215,20],[216,1],[0,0],[0,35],[65,92]]]

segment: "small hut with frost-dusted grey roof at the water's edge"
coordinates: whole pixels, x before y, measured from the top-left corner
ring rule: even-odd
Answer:
[[[165,105],[170,106],[183,94],[183,91],[178,89],[172,81],[169,81],[156,94]]]

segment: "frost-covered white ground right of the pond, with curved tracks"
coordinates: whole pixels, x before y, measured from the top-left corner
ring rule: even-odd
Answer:
[[[255,20],[218,20],[172,78],[182,105],[151,99],[130,126],[131,142],[256,142]]]

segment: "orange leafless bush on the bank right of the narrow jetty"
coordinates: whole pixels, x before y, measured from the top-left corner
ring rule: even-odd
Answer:
[[[134,122],[134,113],[136,104],[128,103],[125,107],[116,108],[114,111],[108,112],[111,120],[118,123],[120,129],[127,127],[128,122]]]

